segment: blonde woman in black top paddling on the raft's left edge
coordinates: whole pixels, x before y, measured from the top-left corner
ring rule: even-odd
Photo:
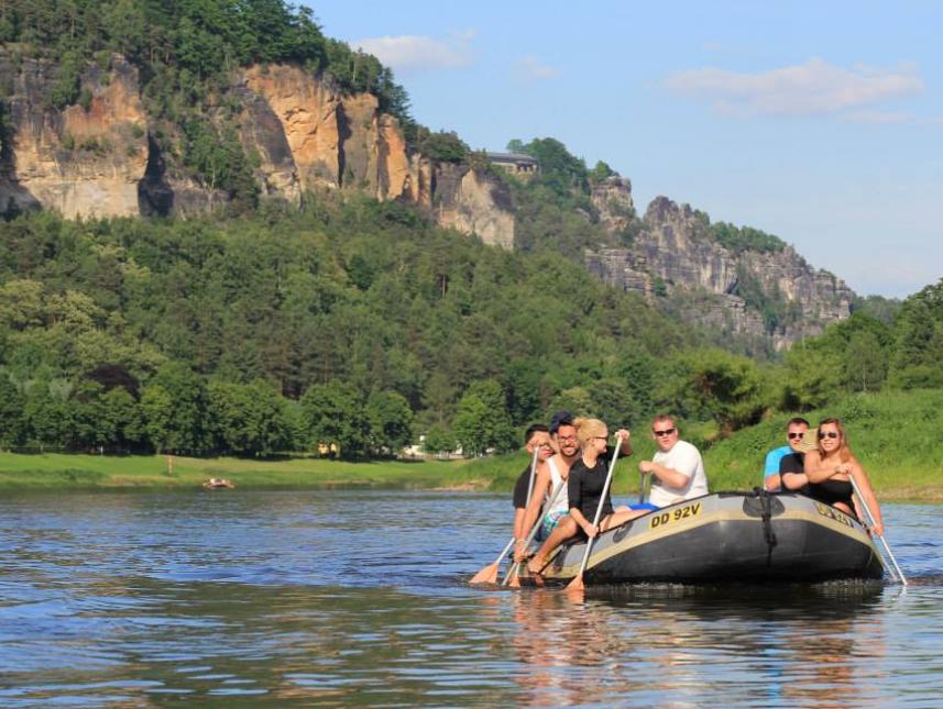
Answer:
[[[570,468],[570,476],[567,479],[569,513],[560,519],[557,528],[527,564],[527,570],[531,574],[539,574],[550,553],[571,536],[594,538],[600,532],[618,527],[647,512],[647,510],[633,510],[623,506],[613,508],[612,490],[607,490],[600,523],[593,524],[615,448],[606,445],[608,440],[606,424],[599,419],[575,419],[573,425],[577,429],[582,454]],[[615,433],[619,453],[623,455],[632,455],[631,435],[626,429],[619,429]]]

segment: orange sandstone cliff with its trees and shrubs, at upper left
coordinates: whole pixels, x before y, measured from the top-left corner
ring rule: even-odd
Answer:
[[[198,4],[177,4],[194,26],[211,19]],[[212,33],[193,36],[182,27],[166,29],[169,51],[177,49],[166,63],[153,52],[145,58],[142,47],[109,51],[122,46],[121,35],[105,30],[98,52],[88,51],[94,37],[59,52],[37,49],[43,31],[30,22],[44,5],[54,24],[63,22],[52,20],[54,2],[14,2],[6,11],[17,38],[33,42],[0,47],[0,211],[193,215],[243,211],[266,199],[300,207],[318,190],[350,189],[412,203],[443,226],[513,247],[506,187],[472,167],[457,137],[413,122],[394,100],[402,89],[373,57],[325,40],[304,13],[283,18],[298,36],[282,53],[256,47],[244,66],[210,69],[188,67],[187,57],[208,48],[201,43],[211,46]],[[264,13],[281,3],[255,5]],[[109,16],[107,8],[100,15],[85,10],[78,21],[86,25]],[[124,11],[143,22],[152,9]],[[230,11],[230,25],[244,20],[237,3]],[[234,31],[230,25],[216,29]],[[8,25],[8,34],[14,31]],[[303,40],[308,46],[297,46]],[[272,60],[256,60],[266,54]],[[348,65],[374,80],[344,80]]]

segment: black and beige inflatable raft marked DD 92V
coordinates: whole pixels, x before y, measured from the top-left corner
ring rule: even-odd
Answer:
[[[580,570],[585,541],[564,544],[539,577],[562,584]],[[653,510],[600,535],[586,586],[667,581],[820,581],[881,578],[884,563],[854,518],[794,494],[716,492]]]

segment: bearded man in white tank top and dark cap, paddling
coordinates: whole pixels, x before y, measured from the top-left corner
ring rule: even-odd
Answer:
[[[557,411],[550,417],[550,436],[555,454],[545,465],[537,468],[534,492],[530,495],[530,503],[527,506],[522,524],[525,534],[530,533],[534,524],[540,524],[535,536],[538,542],[547,539],[569,511],[566,481],[570,475],[570,467],[580,457],[577,429],[573,426],[573,417],[569,411]],[[553,495],[555,491],[556,495]],[[547,506],[542,518],[538,521],[540,507],[545,501]],[[527,555],[525,544],[527,540],[520,536],[515,539],[517,543],[514,547],[514,561],[520,562]]]

